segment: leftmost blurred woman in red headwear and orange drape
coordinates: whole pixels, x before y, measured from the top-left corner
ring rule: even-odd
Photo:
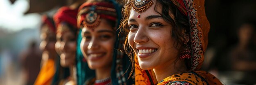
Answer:
[[[57,53],[54,49],[56,43],[56,28],[52,18],[43,15],[43,24],[41,27],[40,38],[42,42],[40,43],[40,49],[43,50],[42,53],[42,68],[36,78],[34,85],[50,85],[54,77],[55,60]]]

